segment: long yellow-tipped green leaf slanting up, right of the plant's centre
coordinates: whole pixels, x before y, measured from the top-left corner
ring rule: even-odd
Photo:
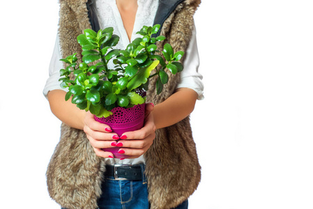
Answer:
[[[153,63],[151,63],[151,65],[148,65],[146,68],[142,68],[137,72],[136,75],[131,77],[127,84],[128,91],[132,91],[132,89],[138,88],[142,84],[145,84],[151,74],[151,71],[155,69],[159,63],[160,61],[155,60]]]

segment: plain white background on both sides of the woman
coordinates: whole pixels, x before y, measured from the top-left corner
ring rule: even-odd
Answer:
[[[205,100],[192,113],[202,179],[190,208],[313,208],[313,6],[203,0]],[[0,208],[59,208],[45,171],[60,122],[42,91],[54,1],[1,3]]]

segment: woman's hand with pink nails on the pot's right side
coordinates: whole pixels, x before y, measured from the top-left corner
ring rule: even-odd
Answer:
[[[125,132],[119,140],[119,153],[128,155],[127,158],[137,158],[144,155],[155,139],[155,123],[153,120],[153,104],[146,104],[144,127],[133,132]]]

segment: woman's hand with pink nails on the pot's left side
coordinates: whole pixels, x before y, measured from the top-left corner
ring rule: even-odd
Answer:
[[[99,123],[93,118],[93,114],[87,111],[84,118],[84,132],[97,156],[113,158],[112,153],[102,150],[102,148],[116,147],[119,136],[112,132],[111,127]]]

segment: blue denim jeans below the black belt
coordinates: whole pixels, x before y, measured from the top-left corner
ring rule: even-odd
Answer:
[[[142,180],[114,180],[113,177],[106,177],[102,183],[102,195],[98,199],[98,206],[100,209],[150,208],[146,176],[143,175]],[[187,208],[188,200],[173,209]]]

